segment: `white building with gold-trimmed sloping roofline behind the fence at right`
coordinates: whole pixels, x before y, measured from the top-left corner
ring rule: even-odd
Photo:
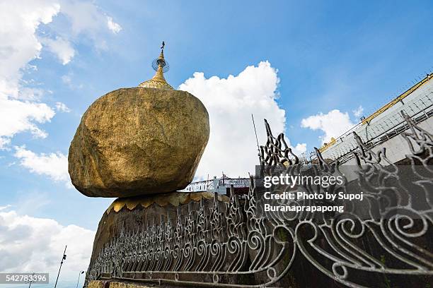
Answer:
[[[386,147],[391,162],[398,162],[410,154],[408,145],[400,135],[408,129],[401,111],[408,114],[420,128],[433,132],[433,74],[413,85],[409,90],[381,107],[347,131],[333,138],[319,150],[323,158],[339,160],[341,164],[356,164],[352,151],[357,148],[353,132],[374,152]]]

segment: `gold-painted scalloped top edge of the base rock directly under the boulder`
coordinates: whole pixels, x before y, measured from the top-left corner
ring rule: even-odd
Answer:
[[[119,212],[122,208],[126,207],[128,210],[134,210],[138,205],[142,205],[144,208],[148,208],[150,205],[156,203],[161,207],[165,207],[166,205],[173,205],[177,207],[178,205],[187,204],[190,201],[198,202],[202,200],[202,198],[210,200],[214,198],[214,193],[209,192],[194,192],[194,193],[186,193],[186,192],[173,192],[173,193],[164,193],[164,194],[156,194],[156,195],[147,195],[147,196],[135,196],[135,197],[127,197],[127,198],[117,198],[111,203],[110,207],[106,210],[107,214],[109,214],[112,210],[115,212]],[[218,200],[223,202],[228,202],[229,197],[225,195],[218,195]]]

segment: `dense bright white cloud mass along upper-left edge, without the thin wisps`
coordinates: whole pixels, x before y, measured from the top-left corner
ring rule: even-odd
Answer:
[[[23,88],[21,77],[42,49],[35,36],[38,26],[50,23],[59,8],[51,1],[0,3],[0,148],[6,148],[16,133],[47,136],[38,124],[50,121],[54,111],[47,104],[30,101],[40,98],[40,90]]]

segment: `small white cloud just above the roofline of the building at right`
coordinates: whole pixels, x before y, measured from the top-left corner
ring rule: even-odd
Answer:
[[[319,113],[302,119],[301,126],[312,130],[321,130],[325,135],[319,136],[323,143],[328,143],[330,138],[337,138],[354,126],[347,112],[342,113],[334,109],[328,114]]]

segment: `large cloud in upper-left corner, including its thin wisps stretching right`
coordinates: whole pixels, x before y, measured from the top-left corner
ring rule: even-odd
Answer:
[[[54,27],[52,37],[38,38],[40,26],[49,25],[59,14],[69,20],[67,28]],[[62,64],[68,64],[75,55],[70,40],[87,35],[100,45],[103,32],[110,31],[107,17],[93,1],[86,0],[0,2],[0,149],[8,148],[17,133],[46,137],[40,125],[55,114],[41,102],[44,91],[28,86],[23,80],[23,73],[37,70],[29,62],[40,58],[46,47]],[[111,22],[113,29],[120,29],[120,25]]]

